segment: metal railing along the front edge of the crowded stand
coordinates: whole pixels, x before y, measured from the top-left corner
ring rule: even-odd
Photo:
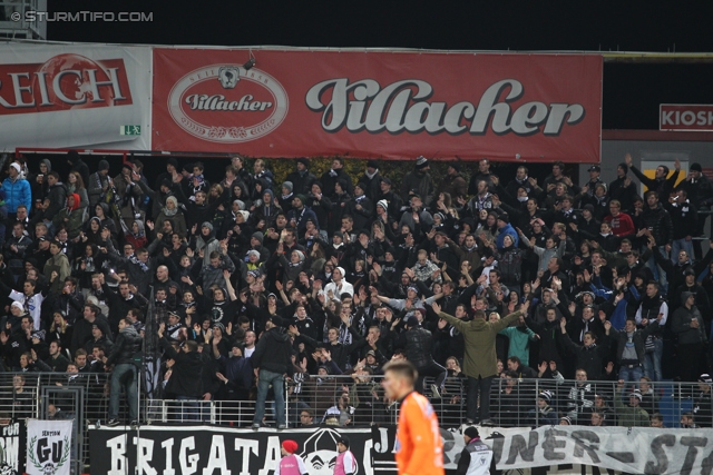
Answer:
[[[89,464],[89,425],[106,424],[109,403],[109,377],[105,374],[61,373],[0,374],[0,417],[4,418],[71,418],[77,420],[79,463]],[[314,425],[335,426],[393,425],[398,420],[398,404],[388,400],[380,376],[355,379],[351,376],[310,376],[285,385],[285,413],[290,427],[300,427],[300,415],[309,413]],[[691,413],[700,427],[713,427],[713,392],[709,384],[576,382],[556,379],[496,378],[490,397],[490,419],[502,427],[536,427],[558,423],[563,416],[572,424],[592,425],[593,413],[604,415],[605,425],[629,423],[629,395],[639,389],[643,395],[635,420],[647,422],[660,414],[666,427],[681,427],[682,416]],[[548,392],[548,407],[538,403]],[[437,383],[424,379],[423,393],[433,406],[443,427],[458,427],[466,422],[467,379],[447,378]],[[617,407],[615,395],[622,394],[624,407]],[[79,395],[81,397],[79,397]],[[255,400],[170,400],[139,396],[143,424],[214,424],[247,427],[255,414]],[[79,409],[82,407],[84,409]],[[265,426],[276,426],[275,405],[265,405]],[[121,396],[119,418],[128,420],[128,405]]]

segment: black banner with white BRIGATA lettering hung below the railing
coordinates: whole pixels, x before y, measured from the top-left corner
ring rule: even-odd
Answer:
[[[92,475],[216,474],[272,475],[280,463],[280,445],[295,441],[310,475],[332,475],[336,438],[345,435],[356,459],[356,474],[371,475],[370,428],[234,429],[214,426],[100,427],[89,431]],[[393,459],[393,456],[392,456]],[[137,462],[138,461],[138,462]],[[136,472],[138,468],[138,472]]]

